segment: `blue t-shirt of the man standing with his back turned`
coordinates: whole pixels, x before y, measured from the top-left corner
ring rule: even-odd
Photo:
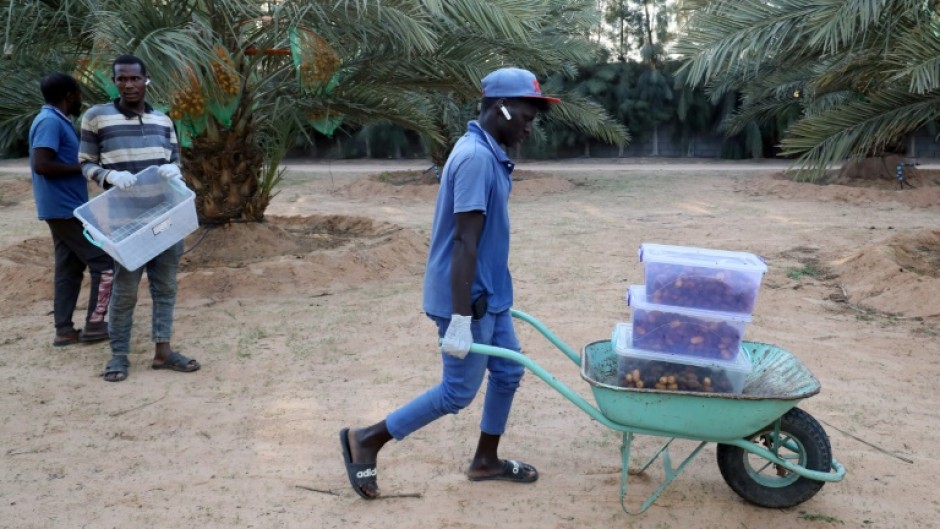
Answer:
[[[29,128],[29,157],[33,150],[52,149],[58,162],[78,164],[78,134],[72,122],[59,109],[43,105]],[[33,197],[40,220],[70,219],[75,208],[88,202],[88,183],[81,171],[72,176],[46,178],[33,171]]]

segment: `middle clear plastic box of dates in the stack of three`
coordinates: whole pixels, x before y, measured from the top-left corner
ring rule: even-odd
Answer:
[[[647,301],[643,285],[630,285],[633,344],[649,351],[734,360],[751,316],[659,305]]]

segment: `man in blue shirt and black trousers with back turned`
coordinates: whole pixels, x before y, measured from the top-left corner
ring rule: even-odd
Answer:
[[[29,163],[33,196],[40,220],[46,221],[55,247],[55,339],[63,346],[108,339],[105,314],[111,298],[114,264],[111,257],[89,243],[82,234],[75,208],[88,202],[88,184],[78,165],[79,137],[68,116],[82,108],[78,82],[52,73],[40,82],[46,104],[29,129]],[[75,329],[72,314],[78,304],[82,280],[88,268],[91,288],[84,329]]]

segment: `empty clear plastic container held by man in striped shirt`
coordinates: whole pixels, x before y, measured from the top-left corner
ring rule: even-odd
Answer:
[[[111,188],[75,208],[85,238],[128,270],[136,270],[199,227],[196,194],[155,166],[127,189]]]

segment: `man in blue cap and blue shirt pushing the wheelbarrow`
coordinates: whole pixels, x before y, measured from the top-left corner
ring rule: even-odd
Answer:
[[[497,455],[524,368],[511,360],[468,353],[472,343],[520,350],[509,311],[513,163],[501,145],[525,141],[538,113],[559,100],[543,96],[535,76],[519,68],[496,70],[482,84],[479,119],[468,124],[444,165],[424,276],[424,310],[442,339],[443,379],[384,421],[339,433],[349,482],[365,499],[379,496],[379,450],[468,406],[487,371],[480,439],[467,477],[517,483],[538,479],[532,466]]]

